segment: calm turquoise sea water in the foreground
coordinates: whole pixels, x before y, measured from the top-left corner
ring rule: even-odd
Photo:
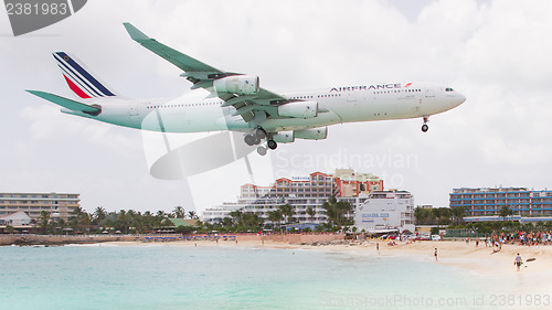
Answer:
[[[0,309],[502,309],[491,304],[500,282],[431,260],[317,250],[0,247]]]

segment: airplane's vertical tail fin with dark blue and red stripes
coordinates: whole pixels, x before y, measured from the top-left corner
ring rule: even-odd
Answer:
[[[115,93],[109,90],[104,83],[95,78],[86,66],[76,60],[75,56],[65,52],[52,53],[57,66],[62,70],[63,77],[67,82],[68,87],[78,97],[95,98],[95,97],[114,97]]]

